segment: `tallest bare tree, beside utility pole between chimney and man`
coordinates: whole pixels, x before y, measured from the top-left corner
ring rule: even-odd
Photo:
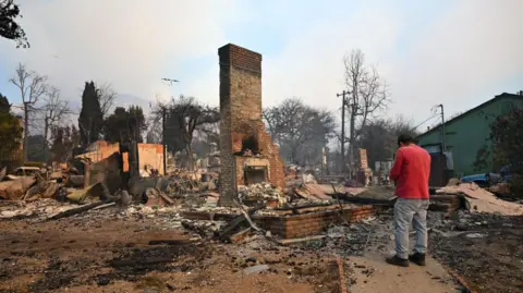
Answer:
[[[365,54],[353,50],[343,58],[345,86],[351,93],[348,98],[349,112],[349,166],[354,163],[354,147],[368,120],[389,102],[387,84],[380,78],[375,66],[365,64]]]

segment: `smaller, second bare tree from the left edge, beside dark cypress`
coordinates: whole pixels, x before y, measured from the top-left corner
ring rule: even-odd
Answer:
[[[40,109],[44,111],[44,151],[47,156],[49,130],[56,126],[65,115],[71,113],[69,101],[60,98],[60,89],[54,86],[48,88],[44,97],[45,105]]]

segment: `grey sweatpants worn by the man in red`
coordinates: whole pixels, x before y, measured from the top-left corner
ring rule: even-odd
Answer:
[[[396,255],[406,259],[409,257],[409,230],[413,223],[416,231],[414,252],[427,252],[427,209],[428,199],[398,198],[394,205],[394,240]]]

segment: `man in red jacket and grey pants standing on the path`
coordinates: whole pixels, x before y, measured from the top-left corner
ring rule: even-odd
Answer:
[[[390,179],[396,182],[394,242],[396,255],[387,263],[409,267],[409,260],[425,266],[427,252],[427,208],[428,176],[430,174],[430,155],[414,144],[408,135],[398,138],[399,149]],[[416,231],[414,254],[409,256],[409,229],[413,223]]]

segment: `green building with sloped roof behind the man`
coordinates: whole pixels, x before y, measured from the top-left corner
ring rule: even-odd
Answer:
[[[490,124],[512,107],[523,107],[523,93],[503,93],[446,121],[447,167],[454,176],[492,171]],[[417,136],[418,145],[430,154],[441,152],[441,125]]]

